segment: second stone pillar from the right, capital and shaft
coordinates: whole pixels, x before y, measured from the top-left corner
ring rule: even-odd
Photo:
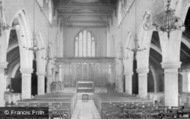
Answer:
[[[148,72],[149,69],[137,69],[139,96],[141,98],[146,98],[148,95],[148,81],[147,81]]]

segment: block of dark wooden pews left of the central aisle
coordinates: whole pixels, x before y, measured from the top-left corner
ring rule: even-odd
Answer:
[[[33,99],[17,101],[12,107],[48,107],[49,118],[71,119],[76,104],[75,94],[49,93],[35,96]]]

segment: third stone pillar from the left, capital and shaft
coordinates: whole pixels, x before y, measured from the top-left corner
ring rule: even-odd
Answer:
[[[45,73],[37,72],[38,76],[38,95],[45,94]]]

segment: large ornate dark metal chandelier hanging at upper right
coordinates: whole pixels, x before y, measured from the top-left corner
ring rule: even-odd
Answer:
[[[151,24],[150,15],[146,18],[143,27],[145,30],[153,26],[158,31],[166,32],[168,39],[172,31],[184,30],[185,27],[180,24],[180,18],[175,16],[175,10],[170,8],[170,2],[171,0],[167,0],[166,10],[155,16],[154,23]]]

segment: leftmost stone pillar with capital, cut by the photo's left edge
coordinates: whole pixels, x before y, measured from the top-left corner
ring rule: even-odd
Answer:
[[[6,90],[6,79],[4,69],[7,67],[7,62],[0,63],[0,107],[5,106],[4,92]]]

